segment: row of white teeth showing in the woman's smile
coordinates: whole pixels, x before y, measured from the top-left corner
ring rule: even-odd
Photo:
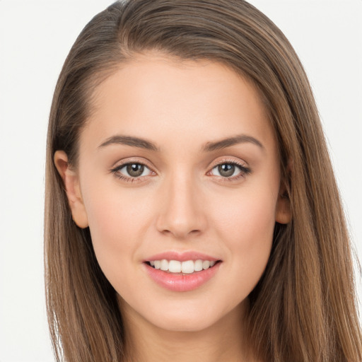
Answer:
[[[180,262],[178,260],[152,260],[149,262],[155,269],[169,271],[170,273],[192,274],[194,271],[202,271],[214,267],[216,262],[209,260],[187,260]]]

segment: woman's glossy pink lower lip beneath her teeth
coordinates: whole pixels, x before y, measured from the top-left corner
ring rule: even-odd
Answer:
[[[160,269],[155,269],[148,264],[144,264],[146,271],[153,281],[159,286],[163,286],[170,291],[193,291],[199,288],[206,281],[209,281],[218,271],[221,262],[217,262],[214,267],[195,271],[192,274],[173,274]]]

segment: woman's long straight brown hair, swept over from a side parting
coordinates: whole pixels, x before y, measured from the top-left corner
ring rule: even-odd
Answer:
[[[276,224],[250,294],[250,343],[265,361],[362,361],[349,235],[313,93],[281,30],[243,0],[118,1],[71,48],[47,136],[47,312],[57,361],[124,361],[116,292],[71,212],[54,152],[76,167],[94,88],[134,54],[222,62],[259,91],[273,124],[293,221]]]

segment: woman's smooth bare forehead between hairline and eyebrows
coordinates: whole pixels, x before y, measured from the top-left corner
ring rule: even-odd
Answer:
[[[81,141],[115,134],[200,144],[233,134],[274,141],[267,112],[250,81],[208,60],[139,55],[95,88]],[[162,146],[162,144],[160,145]]]

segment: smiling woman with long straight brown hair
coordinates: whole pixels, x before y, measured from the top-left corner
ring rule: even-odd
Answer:
[[[361,361],[308,79],[245,1],[124,1],[76,40],[47,147],[66,361]]]

